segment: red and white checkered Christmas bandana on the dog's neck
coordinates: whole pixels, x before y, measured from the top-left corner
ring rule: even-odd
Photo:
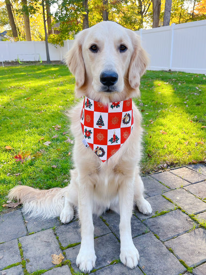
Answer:
[[[129,137],[134,123],[132,99],[103,105],[84,99],[81,112],[83,143],[105,162]]]

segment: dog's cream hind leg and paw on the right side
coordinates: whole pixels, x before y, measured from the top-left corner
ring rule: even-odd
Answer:
[[[139,174],[136,173],[134,186],[134,202],[140,212],[145,215],[150,215],[153,210],[150,203],[144,198],[144,183]]]

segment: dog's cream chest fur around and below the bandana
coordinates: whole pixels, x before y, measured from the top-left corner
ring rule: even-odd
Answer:
[[[106,162],[99,160],[91,148],[83,143],[83,134],[80,127],[82,102],[70,113],[71,131],[75,138],[73,158],[77,170],[77,177],[90,178],[94,185],[94,213],[100,215],[106,209],[115,208],[118,211],[118,188],[124,180],[131,177],[134,180],[134,171],[140,158],[140,123],[141,114],[134,108],[134,128],[124,145]],[[135,119],[136,118],[136,119]],[[138,134],[137,134],[138,132]],[[135,153],[138,152],[138,153]]]

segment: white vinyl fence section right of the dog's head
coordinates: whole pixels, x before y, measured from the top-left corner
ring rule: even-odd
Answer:
[[[151,70],[206,74],[206,20],[137,32]]]

